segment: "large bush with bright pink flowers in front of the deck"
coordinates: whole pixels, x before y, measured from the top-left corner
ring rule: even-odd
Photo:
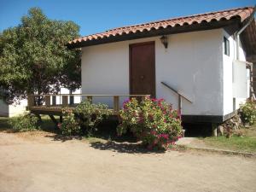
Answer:
[[[149,149],[167,148],[182,134],[180,114],[163,99],[147,97],[138,102],[132,98],[124,102],[119,115],[122,123],[117,127],[118,134],[130,129]]]

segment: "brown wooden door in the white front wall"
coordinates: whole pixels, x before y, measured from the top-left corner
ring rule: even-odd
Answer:
[[[130,94],[155,97],[154,42],[130,44]]]

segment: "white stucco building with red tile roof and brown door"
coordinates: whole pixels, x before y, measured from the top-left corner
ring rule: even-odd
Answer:
[[[150,94],[178,108],[164,82],[190,101],[183,99],[183,121],[221,123],[249,97],[246,50],[255,41],[247,7],[119,27],[68,47],[83,51],[83,94]]]

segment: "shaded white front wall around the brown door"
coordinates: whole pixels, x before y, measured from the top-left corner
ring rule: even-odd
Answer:
[[[155,41],[156,96],[177,108],[177,95],[160,84],[165,81],[188,96],[183,114],[222,115],[222,29],[168,36],[168,49],[160,37],[84,47],[83,94],[129,94],[129,44]],[[102,100],[112,104],[112,98]]]

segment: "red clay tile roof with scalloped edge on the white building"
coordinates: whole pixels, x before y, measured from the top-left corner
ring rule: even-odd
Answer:
[[[210,23],[212,21],[220,20],[231,20],[239,18],[241,22],[246,20],[253,13],[253,7],[245,7],[238,9],[228,9],[223,11],[211,12],[200,15],[191,15],[185,17],[172,18],[169,20],[158,20],[154,22],[149,22],[134,26],[123,26],[108,30],[106,32],[100,32],[82,38],[76,38],[73,41],[68,42],[68,45],[81,44],[83,42],[88,42],[91,40],[99,40],[102,38],[113,38],[117,36],[122,36],[125,34],[132,34],[137,32],[149,32],[152,30],[165,29],[167,27],[176,26],[190,26],[193,24]]]

